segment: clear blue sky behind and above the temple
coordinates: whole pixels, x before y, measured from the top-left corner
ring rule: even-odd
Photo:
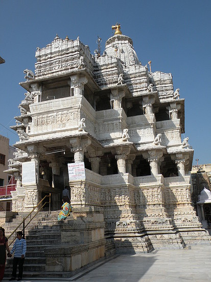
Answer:
[[[185,133],[199,164],[210,157],[211,1],[203,0],[0,0],[1,116],[0,134],[18,140],[14,116],[26,92],[18,83],[23,71],[34,71],[36,47],[51,43],[56,34],[69,39],[80,36],[91,53],[99,35],[102,51],[112,36],[111,25],[121,24],[133,40],[139,61],[152,61],[152,71],[171,72],[174,89],[185,98]],[[5,128],[6,127],[6,128]]]

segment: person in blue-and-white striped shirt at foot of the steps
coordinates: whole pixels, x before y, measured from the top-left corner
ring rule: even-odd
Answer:
[[[20,281],[22,279],[24,260],[27,251],[27,243],[26,240],[22,238],[22,235],[22,231],[17,231],[17,239],[15,240],[12,251],[10,252],[10,254],[8,254],[8,256],[11,257],[12,254],[15,252],[12,266],[12,278],[9,279],[10,281],[16,280],[17,266],[19,271],[17,281]]]

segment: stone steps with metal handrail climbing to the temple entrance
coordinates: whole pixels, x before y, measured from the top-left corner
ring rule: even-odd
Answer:
[[[65,274],[62,275],[61,272],[49,272],[48,274],[45,272],[45,249],[61,243],[61,231],[59,225],[62,224],[62,221],[60,222],[57,220],[58,213],[59,211],[53,211],[51,213],[40,212],[27,227],[25,231],[25,238],[27,240],[27,254],[24,263],[25,278],[65,276]],[[6,223],[6,235],[11,234],[26,215],[27,213],[18,213],[11,223]],[[70,217],[68,217],[67,220],[71,220]],[[22,227],[18,230],[21,229]],[[9,239],[9,244],[10,242],[11,240]],[[10,246],[10,250],[11,249],[12,245]],[[10,277],[12,274],[12,261],[13,258],[7,258],[5,277]]]

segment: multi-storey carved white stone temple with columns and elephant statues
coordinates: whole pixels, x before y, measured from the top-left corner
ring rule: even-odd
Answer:
[[[184,99],[172,74],[143,66],[118,25],[103,54],[57,35],[36,59],[12,127],[12,210],[31,211],[49,193],[59,210],[69,185],[73,212],[103,212],[106,244],[120,253],[210,244],[192,206],[194,151],[181,139]],[[69,181],[74,162],[84,162],[85,180]]]

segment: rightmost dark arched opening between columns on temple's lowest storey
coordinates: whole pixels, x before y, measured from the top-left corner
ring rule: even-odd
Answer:
[[[164,160],[160,164],[160,173],[163,177],[178,176],[177,166],[175,162],[171,159],[170,155],[164,156]]]

